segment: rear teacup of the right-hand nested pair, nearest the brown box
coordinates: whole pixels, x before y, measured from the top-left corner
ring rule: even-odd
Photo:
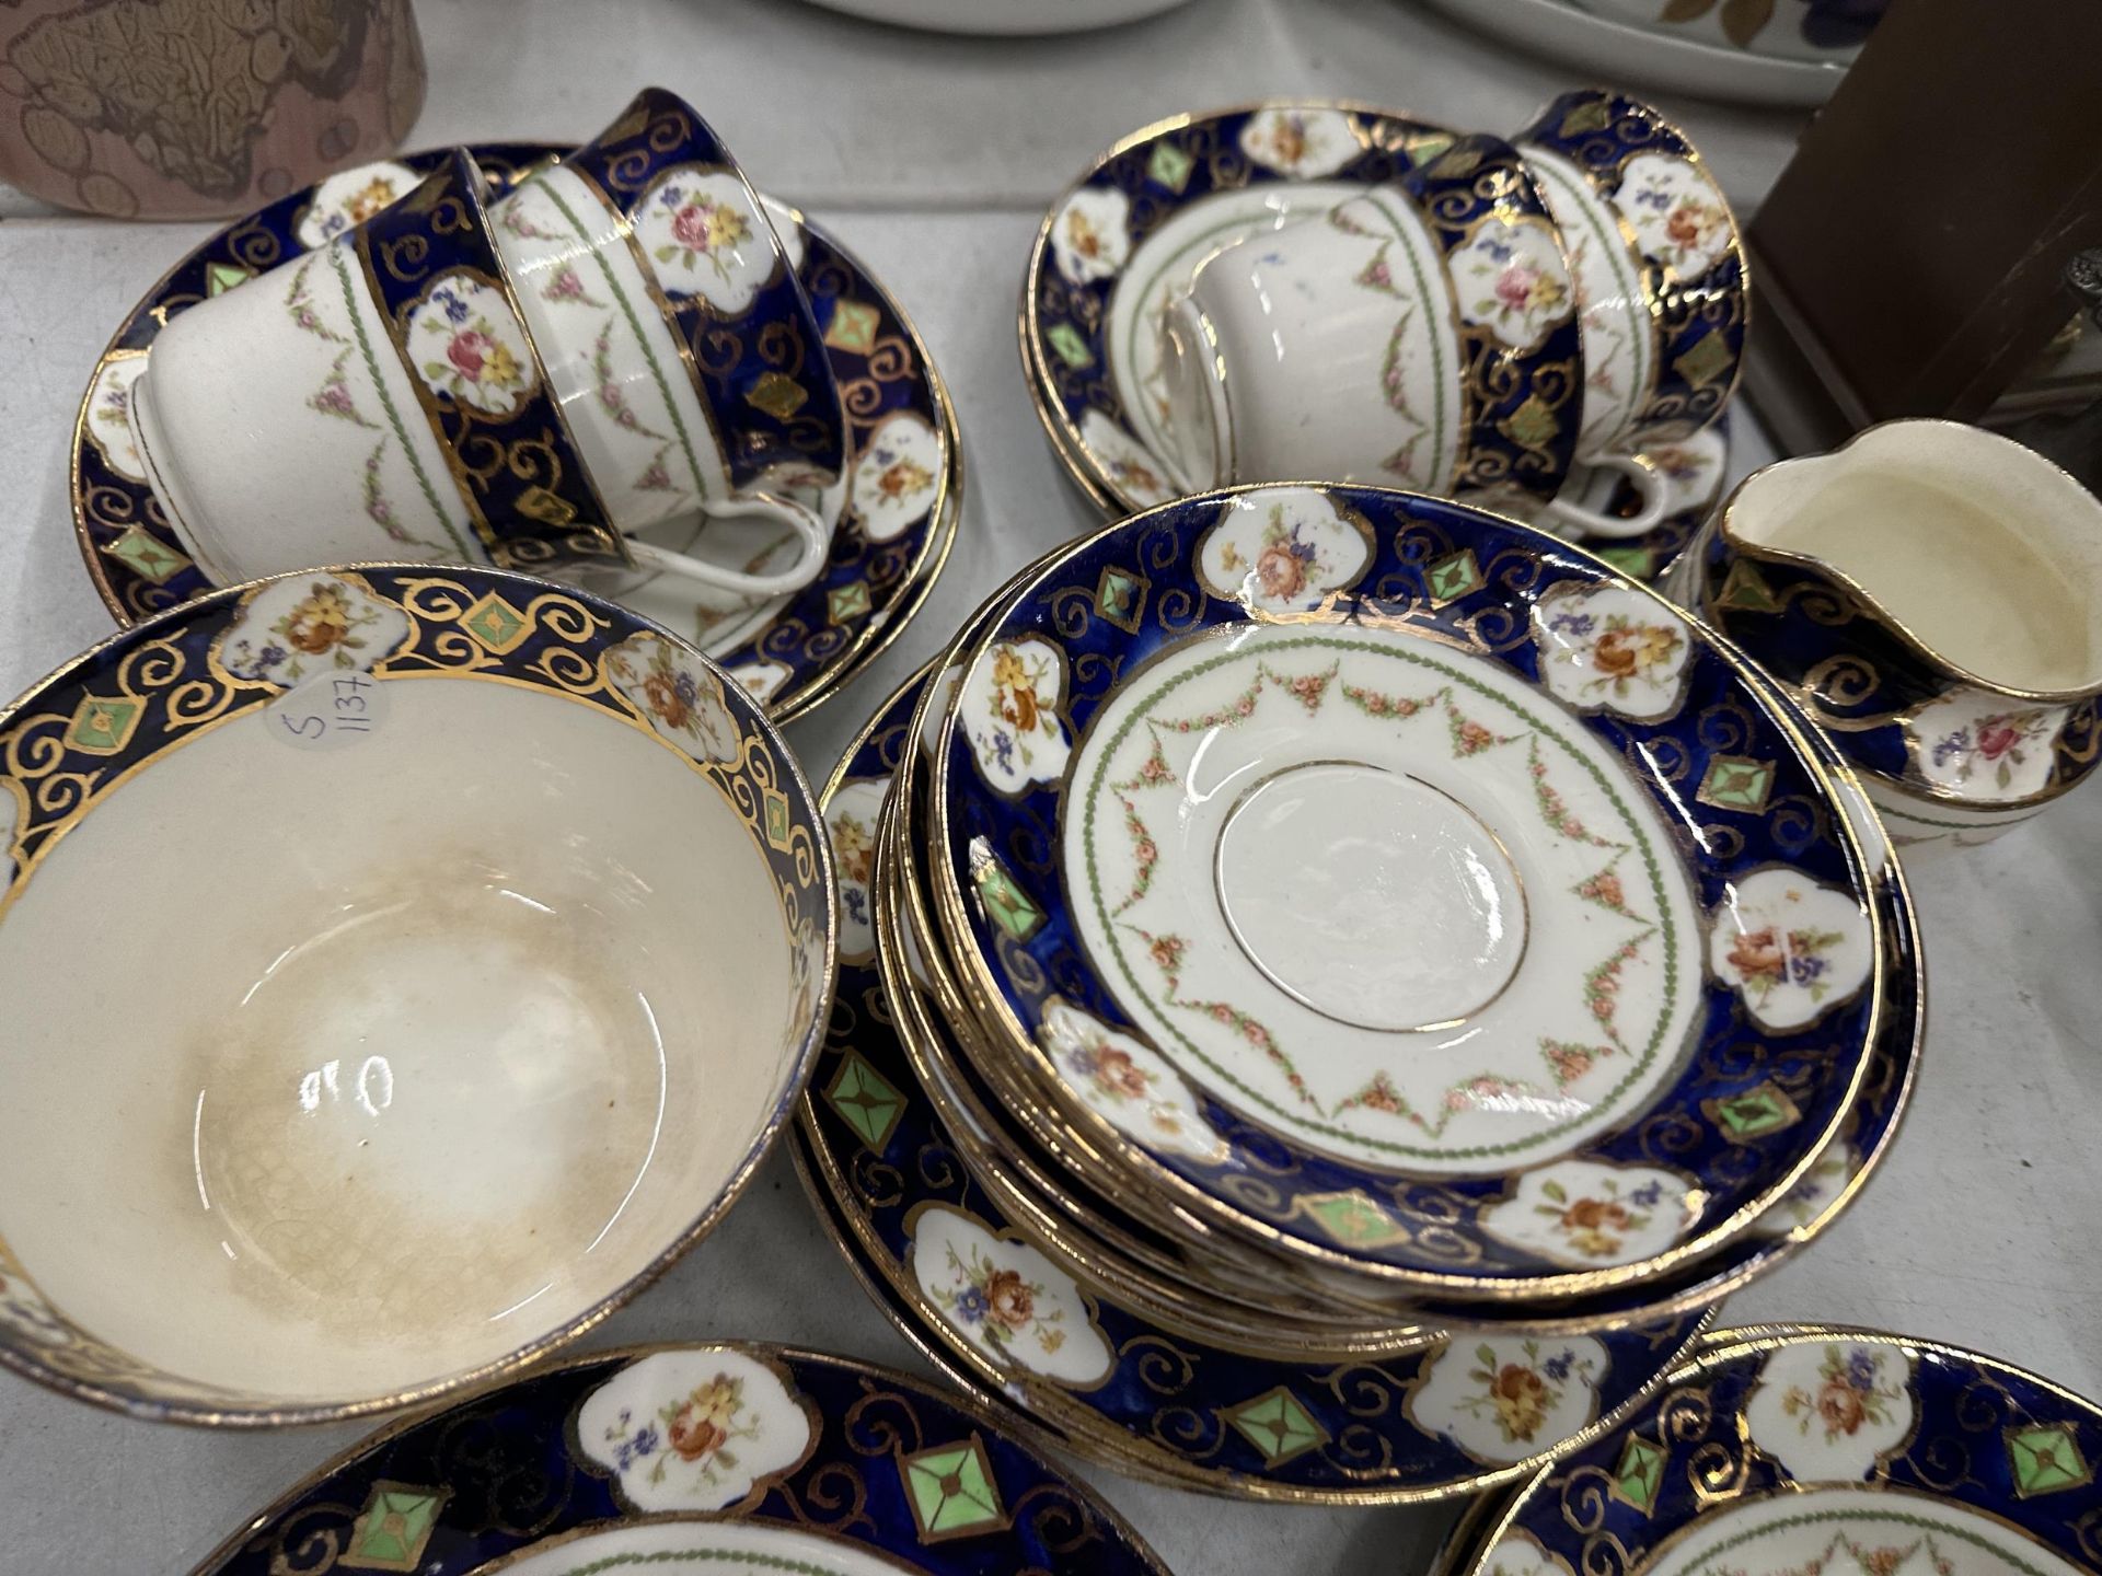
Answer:
[[[1675,443],[1736,389],[1751,313],[1745,248],[1692,143],[1635,99],[1564,92],[1518,137],[1583,305],[1583,441]]]

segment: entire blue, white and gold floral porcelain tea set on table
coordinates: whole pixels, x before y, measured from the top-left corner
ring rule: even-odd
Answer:
[[[1139,132],[1022,309],[1116,519],[820,794],[776,723],[919,607],[954,420],[687,105],[206,242],[76,441],[141,622],[0,714],[0,1362],[189,1423],[452,1404],[208,1570],[317,1526],[376,1570],[1158,1570],[1022,1437],[1251,1498],[1509,1488],[1448,1570],[1593,1570],[1604,1523],[1616,1570],[2077,1568],[2094,1406],[1709,1332],[1896,1137],[1894,843],[2070,790],[2102,696],[2102,506],[2005,439],[1898,422],[1711,513],[1745,300],[1619,95],[1511,141]],[[540,1366],[784,1124],[969,1399],[774,1347]],[[454,1494],[486,1427],[574,1469],[532,1532]],[[1949,1488],[1972,1435],[2003,1460]],[[870,1513],[797,1542],[841,1484]],[[1898,1490],[1932,1526],[1888,1555]]]

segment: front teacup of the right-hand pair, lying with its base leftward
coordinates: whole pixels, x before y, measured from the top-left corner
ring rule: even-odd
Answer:
[[[1169,305],[1162,366],[1192,488],[1375,481],[1522,500],[1593,534],[1663,517],[1648,466],[1579,441],[1585,355],[1562,237],[1495,137],[1207,258]],[[1579,460],[1627,473],[1644,511],[1555,500]]]

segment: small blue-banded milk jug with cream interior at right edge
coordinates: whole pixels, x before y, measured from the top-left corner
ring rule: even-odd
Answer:
[[[1892,841],[1984,843],[2102,756],[2102,504],[1944,420],[1753,473],[1673,572],[1833,735]]]

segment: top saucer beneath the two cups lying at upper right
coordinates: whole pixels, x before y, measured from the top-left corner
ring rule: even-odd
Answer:
[[[1158,338],[1146,332],[1213,252],[1358,195],[1436,158],[1452,132],[1362,105],[1270,103],[1177,116],[1127,137],[1053,204],[1022,292],[1022,361],[1066,473],[1104,515],[1167,502],[1186,479],[1167,416]],[[1644,454],[1667,479],[1665,519],[1598,542],[1654,578],[1707,517],[1728,469],[1713,431]],[[1564,496],[1635,515],[1614,471],[1579,466]]]

